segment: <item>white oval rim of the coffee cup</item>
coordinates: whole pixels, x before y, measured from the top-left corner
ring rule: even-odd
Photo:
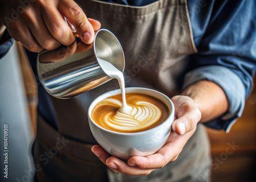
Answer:
[[[110,96],[114,96],[114,95],[117,95],[117,94],[120,94],[121,93],[121,89],[115,89],[115,90],[111,90],[111,91],[108,91],[108,92],[105,92],[101,95],[99,95],[97,98],[95,98],[89,108],[88,108],[88,117],[89,117],[89,122],[91,122],[92,124],[94,124],[96,127],[102,129],[103,131],[105,132],[109,132],[109,133],[112,133],[112,134],[118,134],[118,135],[139,135],[139,134],[144,134],[144,133],[148,133],[148,132],[152,132],[154,130],[157,130],[159,127],[161,127],[162,125],[164,125],[169,119],[172,119],[172,117],[174,116],[174,112],[175,112],[175,108],[174,108],[174,104],[172,102],[172,100],[170,100],[169,97],[167,97],[165,94],[159,92],[159,91],[156,91],[156,90],[153,90],[153,89],[148,89],[148,88],[143,88],[143,87],[125,87],[125,93],[133,93],[132,90],[146,90],[146,91],[151,91],[151,92],[154,92],[154,93],[157,93],[159,95],[162,95],[164,96],[164,98],[166,98],[166,101],[170,103],[170,105],[172,106],[171,108],[168,107],[169,111],[170,111],[170,114],[169,116],[165,119],[165,121],[163,121],[161,124],[151,128],[151,129],[147,129],[145,131],[141,131],[141,132],[134,132],[134,133],[122,133],[122,132],[115,132],[115,131],[111,131],[109,129],[106,129],[100,125],[98,125],[93,119],[92,119],[92,116],[91,116],[91,113],[92,113],[92,110],[93,110],[93,107],[100,101],[102,101],[103,99],[105,98],[108,98]],[[116,92],[116,93],[115,93]],[[115,94],[112,94],[112,93],[115,93]],[[136,92],[135,92],[136,93]],[[144,93],[145,94],[145,93]],[[146,94],[147,95],[147,94]],[[156,97],[157,99],[160,99],[158,97]],[[163,101],[162,99],[160,99],[161,101]],[[95,103],[97,101],[97,103]],[[164,103],[166,101],[163,101]],[[93,106],[94,105],[94,106]],[[165,103],[166,105],[166,103]],[[173,123],[173,121],[172,121]]]

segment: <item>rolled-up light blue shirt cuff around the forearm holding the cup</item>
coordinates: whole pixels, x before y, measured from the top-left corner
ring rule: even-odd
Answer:
[[[230,69],[209,65],[188,72],[184,80],[184,88],[201,80],[208,80],[218,84],[228,99],[228,112],[222,117],[206,123],[216,129],[225,129],[229,132],[232,124],[242,115],[245,103],[245,87],[240,77]]]

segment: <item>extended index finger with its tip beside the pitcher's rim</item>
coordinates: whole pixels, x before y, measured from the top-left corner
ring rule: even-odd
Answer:
[[[94,29],[86,14],[71,0],[61,1],[58,10],[74,25],[79,37],[86,44],[91,44],[94,40]]]

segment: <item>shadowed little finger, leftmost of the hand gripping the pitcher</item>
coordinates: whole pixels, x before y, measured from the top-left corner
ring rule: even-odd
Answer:
[[[8,30],[8,29],[7,29]],[[18,30],[18,31],[12,31]],[[20,41],[28,50],[39,53],[44,48],[36,41],[34,36],[31,34],[29,28],[23,25],[17,25],[8,30],[9,34],[14,37],[15,40]]]

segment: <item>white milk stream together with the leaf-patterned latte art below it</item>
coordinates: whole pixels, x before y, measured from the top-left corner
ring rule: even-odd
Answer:
[[[147,127],[161,117],[160,109],[153,103],[138,101],[134,106],[127,105],[125,98],[124,77],[122,72],[108,61],[98,58],[98,62],[106,74],[118,80],[122,93],[122,103],[114,98],[105,99],[105,101],[107,101],[110,105],[120,107],[114,117],[108,117],[109,115],[105,116],[104,121],[106,124],[116,129],[132,131],[134,129]]]

